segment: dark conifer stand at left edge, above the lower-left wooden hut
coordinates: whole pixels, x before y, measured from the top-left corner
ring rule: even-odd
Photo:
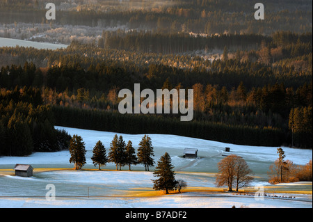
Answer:
[[[70,136],[54,129],[54,114],[36,88],[1,89],[0,156],[67,149]]]

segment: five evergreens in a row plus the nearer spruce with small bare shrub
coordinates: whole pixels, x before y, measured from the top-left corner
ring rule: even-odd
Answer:
[[[143,164],[145,165],[145,171],[149,171],[149,166],[154,166],[154,151],[152,146],[152,140],[150,136],[145,135],[139,143],[137,157],[135,154],[133,143],[128,141],[127,145],[122,138],[115,134],[112,142],[110,143],[109,155],[106,156],[106,148],[101,141],[97,141],[93,148],[93,164],[100,167],[108,162],[113,162],[116,166],[116,170],[121,170],[122,166],[128,165],[129,171],[131,171],[131,165]],[[81,136],[74,135],[70,142],[70,163],[75,164],[76,169],[81,169],[86,164],[86,149],[85,143]],[[158,161],[157,167],[154,170],[154,177],[159,177],[156,180],[152,180],[153,189],[168,191],[178,188],[180,189],[186,184],[182,180],[175,180],[175,173],[172,171],[174,166],[171,164],[170,155],[166,152]]]

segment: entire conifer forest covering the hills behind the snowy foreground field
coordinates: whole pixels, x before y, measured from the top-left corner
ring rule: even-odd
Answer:
[[[253,6],[241,1],[177,0],[144,9],[135,2],[131,10],[108,11],[60,3],[61,19],[50,23],[42,1],[1,1],[1,15],[8,15],[0,19],[1,37],[19,36],[22,21],[33,24],[33,35],[65,24],[101,32],[90,41],[58,38],[69,43],[65,49],[0,47],[0,155],[67,149],[70,135],[54,125],[312,148],[312,10],[286,1],[287,9],[273,7],[257,23],[245,14],[253,16]],[[13,3],[18,15],[9,10]],[[29,11],[33,17],[25,17]],[[118,25],[127,28],[106,29]],[[193,120],[119,113],[119,90],[134,92],[137,83],[154,92],[193,89]]]

